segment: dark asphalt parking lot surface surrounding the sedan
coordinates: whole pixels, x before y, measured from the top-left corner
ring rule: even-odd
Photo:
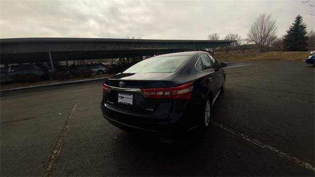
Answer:
[[[178,144],[102,118],[102,81],[1,92],[1,176],[314,176],[314,67],[256,61],[226,73],[209,131]]]

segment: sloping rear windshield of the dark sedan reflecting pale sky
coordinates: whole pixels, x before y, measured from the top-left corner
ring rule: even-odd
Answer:
[[[129,67],[124,73],[169,73],[175,70],[190,56],[169,56],[145,59]]]

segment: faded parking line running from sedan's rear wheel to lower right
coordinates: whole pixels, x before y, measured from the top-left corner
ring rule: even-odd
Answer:
[[[219,123],[219,122],[215,122],[215,121],[213,121],[212,119],[211,119],[211,123],[213,123],[213,124],[215,124],[215,125],[221,127],[222,129],[224,129],[224,130],[226,130],[226,131],[228,131],[228,132],[230,132],[230,133],[232,133],[232,134],[234,134],[234,135],[236,135],[236,136],[238,136],[238,137],[241,137],[242,139],[244,139],[244,140],[246,140],[246,141],[248,141],[248,142],[251,142],[251,143],[254,144],[254,145],[257,145],[257,146],[259,146],[259,147],[261,147],[261,148],[266,148],[266,149],[268,149],[268,150],[270,150],[270,151],[273,151],[273,152],[275,152],[277,155],[279,155],[279,156],[281,156],[281,157],[285,157],[286,159],[288,159],[288,160],[290,160],[290,161],[292,161],[292,162],[295,162],[296,164],[298,164],[298,165],[300,165],[300,166],[302,166],[302,167],[304,167],[304,168],[307,168],[307,169],[312,170],[313,172],[315,172],[315,167],[312,166],[312,164],[310,164],[310,163],[304,162],[304,161],[298,159],[297,157],[291,156],[291,155],[289,155],[289,154],[283,152],[283,151],[280,150],[280,149],[274,148],[274,147],[272,147],[272,146],[269,146],[269,145],[266,145],[266,144],[264,144],[264,143],[261,143],[261,142],[258,141],[258,140],[252,139],[252,138],[248,137],[247,135],[244,135],[244,134],[242,134],[242,133],[239,133],[238,131],[235,131],[235,130],[229,128],[229,127],[226,127],[225,125],[222,125],[222,124]]]

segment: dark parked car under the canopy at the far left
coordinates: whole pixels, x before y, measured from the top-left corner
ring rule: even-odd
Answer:
[[[36,82],[49,78],[48,71],[35,64],[20,64],[0,69],[0,81],[10,82]]]

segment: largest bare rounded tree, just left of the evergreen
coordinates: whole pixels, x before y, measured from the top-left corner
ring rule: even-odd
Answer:
[[[276,31],[276,20],[271,19],[271,14],[263,13],[257,17],[247,35],[250,41],[257,45],[259,51],[263,52],[263,48],[270,46],[277,38]]]

